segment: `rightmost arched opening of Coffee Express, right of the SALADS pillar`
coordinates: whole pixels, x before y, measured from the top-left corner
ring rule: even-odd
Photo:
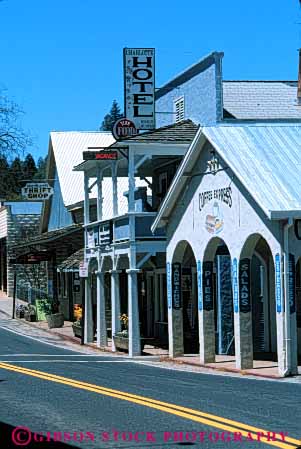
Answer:
[[[240,257],[240,277],[244,265],[249,270],[249,283],[245,288],[250,297],[253,359],[277,361],[275,268],[270,247],[261,235],[253,234],[245,242]]]

